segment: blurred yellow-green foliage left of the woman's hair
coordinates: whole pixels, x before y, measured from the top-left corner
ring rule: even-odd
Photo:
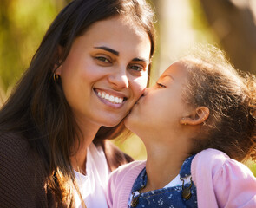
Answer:
[[[0,83],[4,92],[8,93],[28,68],[49,23],[62,5],[57,0],[0,2]]]

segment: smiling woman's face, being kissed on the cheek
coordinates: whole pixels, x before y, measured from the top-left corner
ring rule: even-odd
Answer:
[[[148,81],[148,34],[121,17],[92,24],[56,70],[78,123],[114,127]]]

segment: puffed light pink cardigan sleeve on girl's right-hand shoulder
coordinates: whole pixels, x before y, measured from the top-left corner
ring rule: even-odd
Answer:
[[[253,173],[225,153],[207,149],[196,154],[191,173],[199,208],[256,207],[256,179]]]

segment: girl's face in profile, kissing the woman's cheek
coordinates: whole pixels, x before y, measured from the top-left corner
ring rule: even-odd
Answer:
[[[140,137],[145,133],[174,135],[181,127],[181,118],[189,114],[182,95],[186,81],[187,69],[179,62],[172,64],[137,101],[124,120],[126,127]]]

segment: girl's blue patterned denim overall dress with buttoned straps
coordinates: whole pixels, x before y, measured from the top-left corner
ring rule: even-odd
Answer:
[[[196,187],[191,179],[191,162],[194,156],[186,159],[181,166],[180,176],[182,178],[190,178],[190,182],[185,185],[178,185],[174,187],[161,188],[158,190],[143,192],[134,195],[136,191],[143,189],[147,184],[147,172],[144,168],[137,179],[135,179],[135,184],[132,188],[133,198],[128,205],[128,207],[136,208],[182,208],[182,207],[197,207],[197,198],[196,198]],[[160,175],[161,177],[161,175]],[[188,179],[189,179],[188,178]]]

